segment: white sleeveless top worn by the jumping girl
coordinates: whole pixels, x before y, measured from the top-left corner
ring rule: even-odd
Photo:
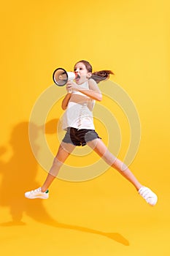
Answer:
[[[82,83],[80,87],[89,89],[88,81]],[[63,115],[63,129],[67,127],[95,129],[93,124],[94,105],[94,99],[82,94],[80,91],[73,91]]]

